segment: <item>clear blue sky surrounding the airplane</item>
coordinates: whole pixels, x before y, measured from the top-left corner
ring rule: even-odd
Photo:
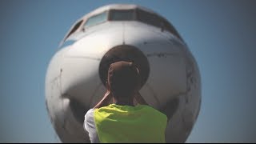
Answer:
[[[186,142],[256,142],[255,1],[0,1],[0,142],[59,142],[45,106],[50,58],[70,26],[110,3],[162,14],[198,62],[202,107]]]

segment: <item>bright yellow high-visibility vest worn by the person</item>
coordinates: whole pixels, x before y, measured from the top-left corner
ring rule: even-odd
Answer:
[[[100,142],[166,142],[167,117],[146,105],[110,104],[94,110]]]

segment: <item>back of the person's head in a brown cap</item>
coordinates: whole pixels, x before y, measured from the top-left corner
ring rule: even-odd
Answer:
[[[114,98],[127,98],[138,90],[140,76],[133,62],[114,62],[108,71],[110,90]]]

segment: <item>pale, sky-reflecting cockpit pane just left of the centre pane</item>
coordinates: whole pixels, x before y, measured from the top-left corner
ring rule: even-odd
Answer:
[[[87,27],[90,27],[90,26],[94,26],[94,25],[97,25],[99,23],[106,22],[106,20],[107,20],[107,11],[88,18],[84,27],[87,28]]]

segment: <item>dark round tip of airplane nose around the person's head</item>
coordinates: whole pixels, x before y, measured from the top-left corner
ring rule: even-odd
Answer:
[[[134,62],[141,74],[141,87],[146,83],[150,74],[150,66],[146,56],[135,46],[114,46],[103,56],[99,65],[99,75],[104,86],[106,86],[107,72],[110,64],[118,61]]]

